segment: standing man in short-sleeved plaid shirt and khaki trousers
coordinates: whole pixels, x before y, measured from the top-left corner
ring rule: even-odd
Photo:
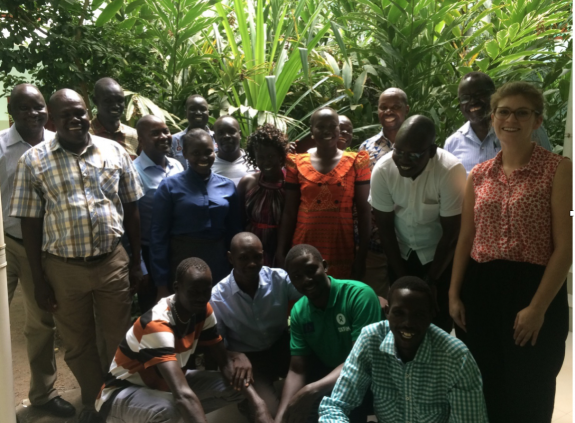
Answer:
[[[104,380],[94,314],[109,364],[130,326],[130,286],[142,278],[137,200],[143,193],[128,153],[88,133],[82,97],[60,90],[48,111],[56,137],[20,158],[10,215],[21,218],[36,302],[54,314],[82,391],[79,422],[89,423],[97,421],[94,401]],[[124,227],[131,262],[120,244]]]

